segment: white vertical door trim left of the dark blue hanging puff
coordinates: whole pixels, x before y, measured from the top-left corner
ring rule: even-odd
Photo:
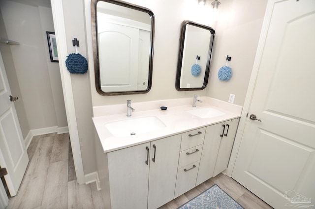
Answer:
[[[62,0],[51,0],[51,7],[54,20],[54,28],[57,38],[57,48],[59,56],[59,68],[63,85],[63,99],[65,112],[69,127],[70,143],[73,153],[74,168],[77,182],[81,185],[85,183],[85,176],[82,163],[81,147],[78,133],[77,120],[75,115],[75,106],[73,99],[71,75],[65,66],[65,60],[68,56],[67,42],[65,35],[63,2]]]

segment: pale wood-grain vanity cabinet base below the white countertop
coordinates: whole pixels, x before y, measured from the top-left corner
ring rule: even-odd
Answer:
[[[227,168],[239,118],[104,153],[97,174],[106,209],[157,209]],[[119,139],[117,139],[119,140]]]

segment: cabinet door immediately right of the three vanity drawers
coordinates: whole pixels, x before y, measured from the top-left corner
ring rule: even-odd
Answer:
[[[213,176],[221,142],[220,135],[224,130],[223,125],[224,122],[208,126],[206,129],[196,186]]]

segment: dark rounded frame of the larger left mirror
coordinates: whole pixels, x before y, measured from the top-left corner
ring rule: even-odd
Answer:
[[[99,70],[99,59],[98,59],[98,35],[97,35],[97,2],[104,1],[113,3],[116,5],[124,6],[127,8],[135,9],[148,13],[151,18],[151,41],[150,41],[150,52],[149,52],[149,77],[148,77],[148,88],[141,91],[121,91],[121,92],[103,92],[100,85],[100,70]],[[94,57],[94,72],[95,72],[95,86],[98,94],[103,96],[113,95],[129,95],[129,94],[145,94],[151,90],[152,87],[152,71],[153,71],[153,49],[154,49],[154,28],[155,28],[155,17],[150,9],[142,6],[131,4],[121,0],[91,0],[91,19],[92,19],[92,41],[93,41],[93,57]]]

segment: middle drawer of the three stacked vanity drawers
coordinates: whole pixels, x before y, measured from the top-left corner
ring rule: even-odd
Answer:
[[[202,144],[182,151],[179,155],[178,168],[182,168],[184,166],[187,166],[190,163],[200,160],[201,153],[202,153]]]

